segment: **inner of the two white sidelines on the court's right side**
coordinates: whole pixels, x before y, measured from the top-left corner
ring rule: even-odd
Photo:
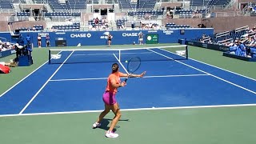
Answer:
[[[148,49],[148,50],[150,50],[150,49]],[[156,54],[160,54],[160,53],[158,53],[158,52],[156,52],[156,51],[154,51],[154,50],[150,50],[150,51],[153,51],[153,52],[156,53]],[[164,55],[164,54],[160,54],[160,55],[162,55],[163,57],[166,57],[166,58],[170,58],[170,57],[167,57],[167,56]],[[170,59],[174,60],[173,58],[170,58]],[[193,68],[194,70],[201,71],[202,73],[210,74],[210,73],[207,73],[206,71],[203,71],[203,70],[200,70],[200,69],[198,69],[198,68],[195,68],[194,66],[190,66],[190,65],[188,65],[188,64],[186,64],[186,63],[184,63],[184,62],[179,62],[179,61],[177,61],[177,60],[174,60],[174,61],[175,61],[175,62],[178,62],[178,63],[181,63],[182,65],[189,66],[189,67]],[[220,80],[222,80],[222,81],[224,81],[224,82],[230,83],[230,84],[233,85],[233,86],[238,86],[239,88],[241,88],[241,89],[243,89],[243,90],[246,90],[246,91],[249,91],[250,93],[256,94],[256,92],[253,91],[253,90],[246,89],[245,87],[239,86],[239,85],[237,85],[237,84],[235,84],[235,83],[233,83],[233,82],[229,82],[229,81],[227,81],[226,79],[219,78],[219,77],[217,77],[217,76],[214,75],[214,74],[210,74],[210,75],[213,76],[214,78],[218,78],[218,79],[220,79]]]

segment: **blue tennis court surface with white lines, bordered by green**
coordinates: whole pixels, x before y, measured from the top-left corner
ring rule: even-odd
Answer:
[[[256,104],[255,79],[158,47],[121,54],[113,50],[63,50],[58,54],[61,58],[46,62],[1,95],[2,116],[102,110],[110,66],[118,62],[125,73],[125,60],[134,56],[142,58],[137,73],[146,70],[146,76],[130,78],[119,89],[122,110]]]

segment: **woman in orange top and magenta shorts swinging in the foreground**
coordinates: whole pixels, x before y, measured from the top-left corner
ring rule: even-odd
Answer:
[[[144,71],[142,74],[131,74],[130,77],[142,78],[146,74]],[[109,130],[106,131],[107,138],[117,138],[118,134],[113,132],[114,126],[118,123],[121,118],[121,112],[119,109],[118,102],[116,101],[115,95],[118,92],[119,87],[126,86],[126,82],[121,82],[120,77],[127,77],[128,74],[119,72],[118,63],[112,65],[112,74],[107,78],[106,91],[103,94],[103,102],[105,103],[105,110],[99,115],[97,122],[94,123],[93,128],[101,126],[101,121],[110,110],[114,113],[114,118],[111,122]]]

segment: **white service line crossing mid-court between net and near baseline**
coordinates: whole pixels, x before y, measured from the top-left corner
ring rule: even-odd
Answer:
[[[196,77],[196,76],[210,76],[209,74],[184,74],[184,75],[151,75],[144,76],[143,78],[171,78],[171,77]],[[66,78],[66,79],[51,79],[50,82],[62,82],[62,81],[87,81],[87,80],[102,80],[107,78]]]

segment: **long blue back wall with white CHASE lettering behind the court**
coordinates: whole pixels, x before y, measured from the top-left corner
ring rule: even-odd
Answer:
[[[178,43],[178,39],[190,40],[202,37],[202,34],[214,34],[214,29],[183,29],[181,30],[124,30],[124,31],[63,31],[63,32],[22,32],[22,38],[30,35],[34,47],[38,47],[38,35],[42,38],[42,47],[46,47],[46,35],[50,36],[50,46],[99,46],[106,45],[107,34],[111,34],[112,45],[138,43],[138,33],[144,34],[144,43],[147,34],[158,34],[158,43]],[[10,33],[0,33],[0,37],[10,39]]]

